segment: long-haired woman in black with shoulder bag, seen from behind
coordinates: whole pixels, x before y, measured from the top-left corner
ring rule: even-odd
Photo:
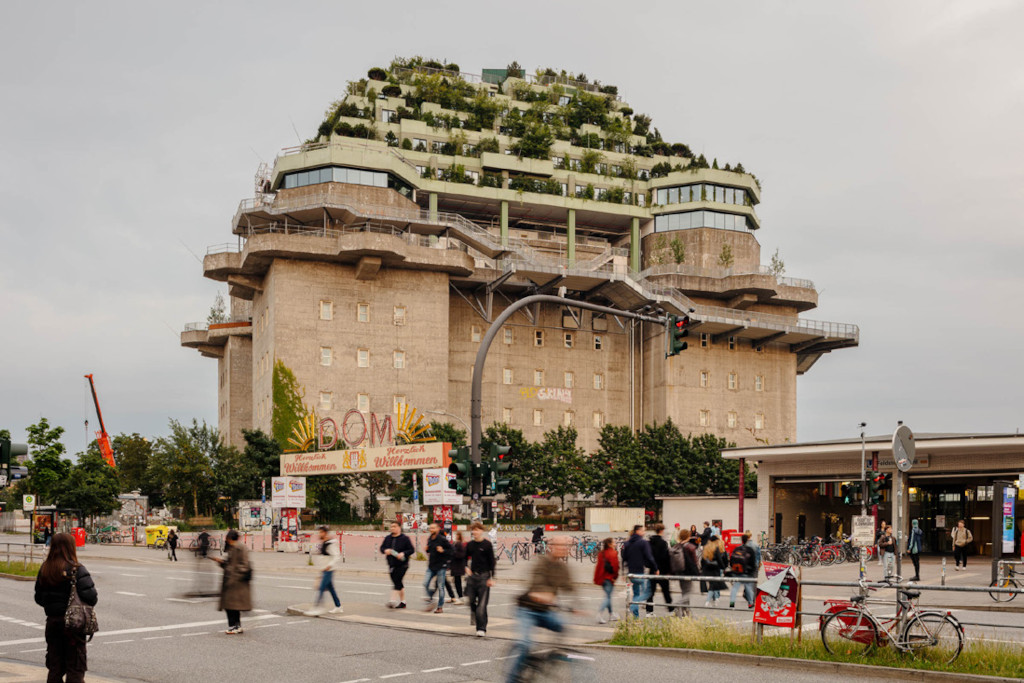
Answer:
[[[36,575],[36,604],[46,612],[47,683],[85,681],[85,639],[65,629],[73,579],[79,599],[94,606],[96,586],[88,569],[78,562],[74,537],[56,533],[50,540],[50,553]]]

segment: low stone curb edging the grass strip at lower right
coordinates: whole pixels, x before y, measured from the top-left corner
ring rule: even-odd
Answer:
[[[574,647],[589,647],[599,650],[614,650],[618,652],[649,652],[659,656],[677,658],[694,658],[707,661],[731,660],[735,664],[745,664],[748,666],[765,667],[768,669],[786,669],[799,671],[817,671],[822,674],[855,674],[857,676],[872,676],[899,681],[978,681],[979,683],[993,683],[995,681],[1007,681],[1013,683],[1020,681],[1019,678],[1005,678],[1001,676],[981,676],[979,674],[961,674],[944,671],[927,671],[922,669],[896,669],[892,667],[877,667],[867,664],[848,664],[845,661],[820,661],[817,659],[799,659],[796,657],[772,657],[764,654],[743,654],[741,652],[719,652],[717,650],[695,650],[682,647],[642,647],[632,645],[602,645],[588,644],[577,645]]]

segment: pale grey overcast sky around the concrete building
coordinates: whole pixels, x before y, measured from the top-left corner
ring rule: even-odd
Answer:
[[[798,440],[1017,431],[1021,26],[982,0],[5,2],[0,428],[84,450],[86,373],[111,433],[215,424],[216,362],[179,346],[226,293],[202,256],[346,81],[422,54],[586,73],[757,174],[762,261],[860,326],[798,381]]]

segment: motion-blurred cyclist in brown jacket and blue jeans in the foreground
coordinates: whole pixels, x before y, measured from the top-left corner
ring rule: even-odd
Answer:
[[[509,670],[508,681],[519,680],[520,672],[534,647],[534,628],[547,629],[554,633],[565,630],[557,611],[559,591],[572,592],[572,580],[568,565],[563,561],[572,541],[568,537],[558,537],[548,546],[548,553],[541,556],[534,567],[526,592],[518,598],[516,621],[519,623],[519,640],[512,646],[515,658]],[[571,610],[570,610],[571,611]]]

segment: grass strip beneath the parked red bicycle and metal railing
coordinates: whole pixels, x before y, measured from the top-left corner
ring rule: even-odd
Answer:
[[[971,636],[970,630],[966,635]],[[900,652],[892,646],[876,647],[866,656],[830,654],[821,644],[821,637],[817,631],[806,631],[801,642],[791,643],[787,631],[766,629],[762,642],[756,643],[750,627],[737,629],[735,624],[708,618],[667,616],[623,621],[616,626],[610,643],[637,647],[680,647],[1005,678],[1018,678],[1024,672],[1024,644],[969,639],[955,661],[951,665],[942,665],[915,659],[912,655]]]

